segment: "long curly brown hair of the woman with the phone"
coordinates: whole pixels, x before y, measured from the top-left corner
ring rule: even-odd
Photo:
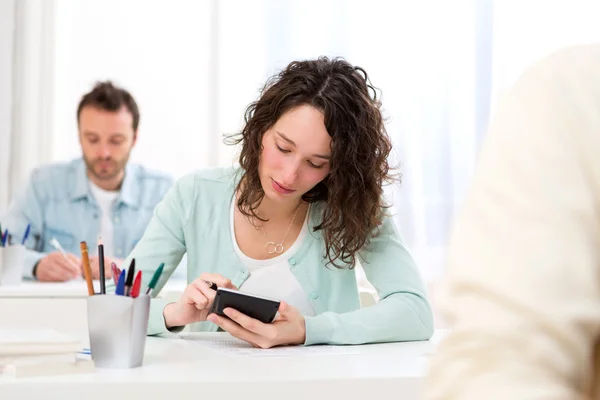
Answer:
[[[246,109],[242,132],[226,138],[228,144],[242,144],[237,205],[247,217],[264,221],[256,213],[264,196],[258,173],[262,138],[284,113],[301,105],[323,113],[332,150],[328,176],[302,198],[323,204],[314,230],[322,231],[328,264],[352,269],[355,256],[378,232],[387,207],[383,185],[394,179],[381,103],[364,69],[320,57],[294,61],[267,81]]]

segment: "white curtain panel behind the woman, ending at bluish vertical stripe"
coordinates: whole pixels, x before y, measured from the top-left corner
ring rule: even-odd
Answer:
[[[438,276],[487,123],[491,1],[221,0],[218,9],[221,131],[239,129],[260,84],[291,60],[343,56],[366,69],[403,176],[389,188],[398,225],[426,278]]]

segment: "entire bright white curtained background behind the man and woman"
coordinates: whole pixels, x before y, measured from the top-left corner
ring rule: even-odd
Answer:
[[[234,149],[222,144],[221,135],[240,129],[245,107],[267,77],[295,59],[343,56],[364,67],[381,89],[395,145],[392,161],[403,175],[388,194],[423,273],[434,279],[442,272],[451,222],[497,96],[536,58],[600,39],[596,3],[2,3],[15,11],[14,18],[3,12],[1,22],[16,21],[17,29],[10,39],[4,35],[10,34],[8,25],[0,28],[0,49],[16,45],[12,62],[0,64],[1,82],[13,82],[14,93],[0,94],[0,105],[12,104],[8,117],[5,107],[0,110],[0,139],[14,140],[8,186],[7,159],[0,159],[0,211],[6,188],[21,183],[32,166],[80,155],[75,110],[97,80],[114,80],[139,102],[133,161],[181,176],[232,162]],[[21,135],[28,139],[21,141]]]

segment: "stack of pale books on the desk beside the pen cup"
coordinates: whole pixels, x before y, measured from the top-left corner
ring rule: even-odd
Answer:
[[[82,343],[52,329],[0,328],[0,380],[92,372]]]

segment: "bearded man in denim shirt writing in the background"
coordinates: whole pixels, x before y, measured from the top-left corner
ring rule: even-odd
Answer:
[[[19,243],[30,225],[24,278],[67,281],[81,276],[78,255],[84,240],[94,277],[99,273],[99,237],[107,277],[111,262],[119,266],[133,249],[172,185],[167,175],[128,162],[139,121],[133,96],[111,82],[97,83],[83,96],[77,108],[83,158],[36,168],[23,195],[0,218],[2,228]]]

